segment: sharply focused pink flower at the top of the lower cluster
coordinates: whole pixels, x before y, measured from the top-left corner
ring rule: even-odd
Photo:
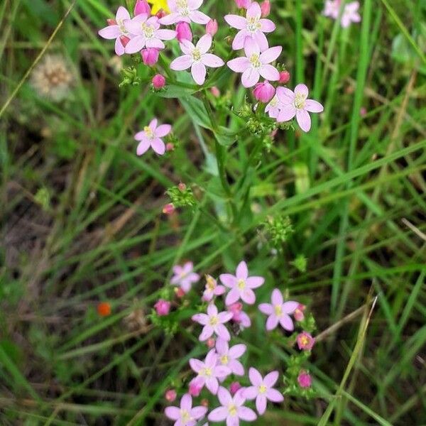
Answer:
[[[226,305],[231,305],[240,298],[243,302],[253,305],[256,302],[256,296],[252,289],[260,287],[265,282],[265,278],[263,277],[249,277],[249,269],[247,268],[247,263],[244,261],[240,262],[236,267],[235,275],[222,273],[219,278],[226,287],[231,289],[226,295]]]

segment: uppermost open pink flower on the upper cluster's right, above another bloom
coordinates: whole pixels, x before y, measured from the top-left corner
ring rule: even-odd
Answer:
[[[271,33],[274,31],[275,23],[270,19],[263,19],[261,16],[261,6],[259,6],[257,1],[254,1],[249,9],[247,9],[246,18],[239,15],[224,16],[225,21],[229,23],[231,27],[239,30],[232,42],[232,48],[234,50],[244,48],[247,37],[252,38],[258,43],[261,52],[268,49],[268,40],[264,33]]]

